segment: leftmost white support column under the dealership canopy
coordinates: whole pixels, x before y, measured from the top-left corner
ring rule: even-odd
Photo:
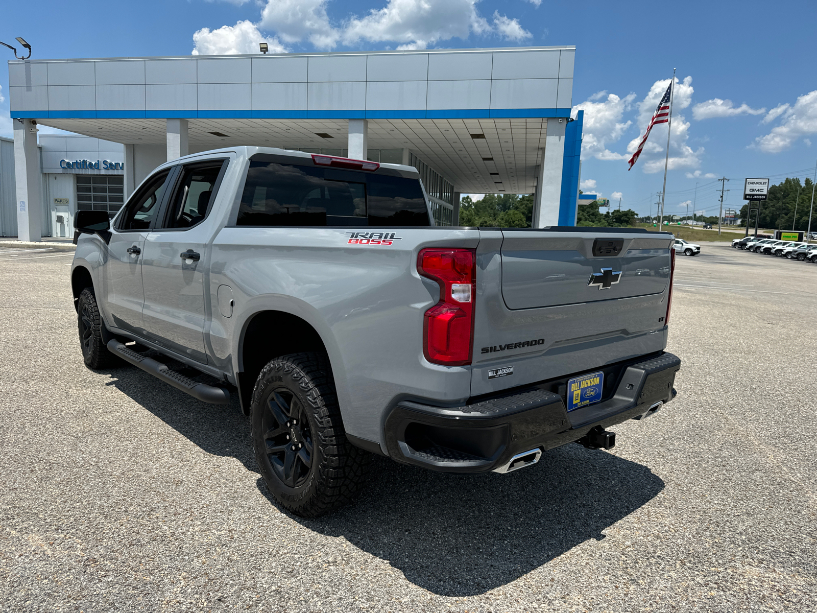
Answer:
[[[14,123],[14,178],[17,186],[17,239],[42,239],[42,174],[37,150],[37,122],[12,119]]]

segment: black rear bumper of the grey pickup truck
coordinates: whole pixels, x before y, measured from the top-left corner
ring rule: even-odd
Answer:
[[[578,441],[593,428],[643,419],[676,396],[681,359],[671,353],[623,367],[614,395],[568,413],[542,386],[458,407],[404,400],[386,418],[392,459],[442,472],[502,471],[511,458]]]

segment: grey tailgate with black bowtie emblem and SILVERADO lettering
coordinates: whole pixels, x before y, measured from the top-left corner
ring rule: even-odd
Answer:
[[[472,395],[665,347],[672,235],[626,228],[481,235]]]

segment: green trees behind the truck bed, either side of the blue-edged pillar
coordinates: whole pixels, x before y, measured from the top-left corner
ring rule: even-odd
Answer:
[[[529,228],[533,224],[534,195],[485,194],[474,201],[471,196],[460,200],[460,226]],[[625,227],[632,226],[636,212],[624,211],[601,213],[598,204],[582,204],[578,207],[577,226]]]

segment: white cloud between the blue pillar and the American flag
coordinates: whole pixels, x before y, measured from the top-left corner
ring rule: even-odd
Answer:
[[[607,99],[600,101],[607,96]],[[573,116],[579,110],[584,111],[582,157],[592,155],[596,159],[626,159],[622,154],[608,150],[608,146],[618,141],[632,125],[632,121],[622,121],[623,115],[630,110],[635,94],[619,98],[615,94],[596,92],[590,98],[573,107]],[[596,102],[600,101],[600,102]]]

